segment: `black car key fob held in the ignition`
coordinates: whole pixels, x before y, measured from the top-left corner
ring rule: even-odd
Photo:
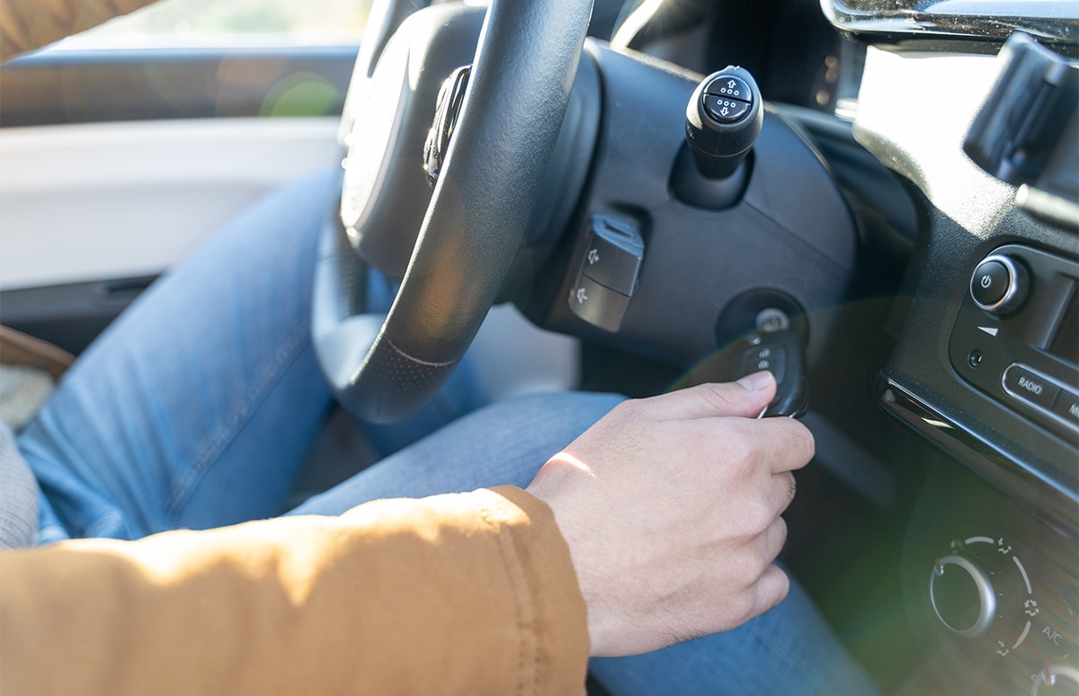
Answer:
[[[751,333],[745,343],[735,379],[768,370],[776,378],[776,397],[759,418],[797,418],[809,405],[805,349],[790,329]]]

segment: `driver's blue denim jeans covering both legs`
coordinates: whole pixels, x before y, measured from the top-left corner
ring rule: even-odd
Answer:
[[[314,177],[252,206],[145,292],[65,377],[18,440],[42,492],[42,542],[137,538],[283,511],[331,405],[309,337],[331,181]],[[377,304],[386,299],[375,294]],[[527,486],[617,401],[552,394],[484,406],[466,360],[419,415],[365,426],[388,456],[295,511]],[[735,631],[591,668],[618,694],[871,691],[797,587]]]

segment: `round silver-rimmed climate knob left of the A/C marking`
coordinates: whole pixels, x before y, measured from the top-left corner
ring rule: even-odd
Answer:
[[[969,558],[955,554],[933,564],[929,602],[944,628],[959,638],[978,638],[988,630],[997,613],[989,575]]]

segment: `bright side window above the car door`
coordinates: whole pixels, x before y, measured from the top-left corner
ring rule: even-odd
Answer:
[[[71,37],[74,49],[358,44],[371,0],[161,0]]]

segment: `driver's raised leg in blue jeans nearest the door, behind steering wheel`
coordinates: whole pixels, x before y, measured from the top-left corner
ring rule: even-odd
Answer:
[[[327,173],[257,202],[155,283],[65,377],[19,438],[42,543],[138,537],[282,511],[331,399],[310,344]],[[395,287],[370,274],[368,310]],[[388,453],[486,404],[463,360],[412,419],[370,426]]]

